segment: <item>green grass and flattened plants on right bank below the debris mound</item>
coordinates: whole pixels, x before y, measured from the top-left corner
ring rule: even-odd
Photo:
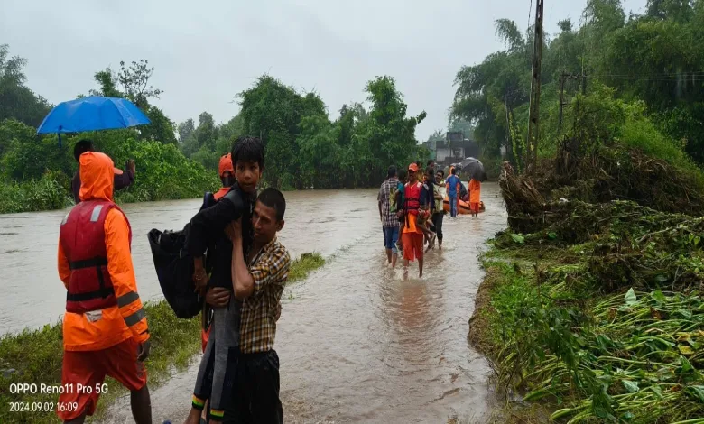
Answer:
[[[469,339],[523,398],[501,422],[704,423],[700,220],[631,217],[490,242]]]

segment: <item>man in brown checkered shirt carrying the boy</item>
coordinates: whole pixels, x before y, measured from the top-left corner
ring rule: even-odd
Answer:
[[[279,356],[273,350],[273,341],[275,317],[291,263],[289,253],[276,238],[283,228],[285,210],[281,191],[262,191],[252,214],[255,241],[249,252],[243,248],[244,220],[238,219],[227,228],[233,245],[233,290],[242,301],[234,394],[237,422],[283,423]]]

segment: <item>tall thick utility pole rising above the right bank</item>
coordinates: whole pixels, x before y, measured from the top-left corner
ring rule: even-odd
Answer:
[[[542,62],[542,0],[535,3],[535,39],[533,41],[533,80],[531,81],[531,112],[528,121],[528,152],[526,169],[532,169],[538,161],[538,138],[540,137],[541,110],[541,62]]]

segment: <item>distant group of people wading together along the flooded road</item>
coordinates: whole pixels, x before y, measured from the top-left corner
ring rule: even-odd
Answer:
[[[445,182],[449,195],[450,217],[457,217],[459,192],[463,188],[454,168]],[[418,275],[423,275],[423,255],[435,248],[442,249],[442,221],[445,215],[442,192],[445,171],[435,170],[435,162],[428,161],[421,173],[421,162],[408,165],[407,170],[397,171],[390,166],[386,180],[377,195],[379,219],[384,232],[384,248],[389,266],[396,266],[398,254],[403,254],[403,278],[408,277],[408,266],[418,260]],[[480,184],[469,181],[471,214],[479,211]],[[425,250],[424,250],[425,246]]]

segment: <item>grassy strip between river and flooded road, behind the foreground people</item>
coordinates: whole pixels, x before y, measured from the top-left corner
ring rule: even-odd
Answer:
[[[325,264],[319,253],[304,253],[291,264],[288,283],[305,279]],[[200,318],[179,319],[165,301],[144,305],[152,335],[152,355],[147,359],[150,387],[168,380],[172,368],[184,369],[200,348]],[[58,394],[12,393],[11,384],[44,383],[56,387],[61,380],[61,324],[46,325],[36,330],[25,330],[0,339],[0,369],[14,369],[9,375],[0,375],[0,422],[60,422],[55,412],[36,410],[54,406]],[[125,389],[111,378],[106,379],[107,393],[101,395],[97,417],[107,410]],[[28,404],[30,412],[11,411],[11,403]],[[32,412],[32,410],[35,410]]]

